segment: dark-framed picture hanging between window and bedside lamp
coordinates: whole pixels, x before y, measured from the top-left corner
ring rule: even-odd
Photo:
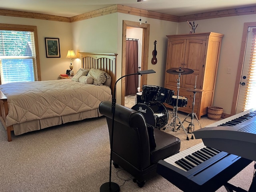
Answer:
[[[47,58],[60,57],[60,39],[59,38],[44,38]]]

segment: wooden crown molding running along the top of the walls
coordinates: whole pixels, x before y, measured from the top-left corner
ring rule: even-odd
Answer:
[[[23,12],[23,11],[0,9],[0,15],[2,15],[2,16],[34,18],[34,19],[52,20],[52,21],[60,21],[60,22],[76,22],[76,21],[94,18],[94,17],[107,15],[107,14],[112,14],[112,13],[116,13],[116,12],[130,14],[130,15],[136,15],[136,16],[142,16],[142,17],[146,17],[146,18],[154,18],[154,19],[159,19],[159,20],[166,20],[166,21],[173,21],[173,22],[186,22],[187,20],[203,20],[203,19],[210,19],[210,18],[256,14],[256,6],[249,6],[249,7],[236,8],[236,9],[226,9],[226,10],[219,10],[219,11],[212,11],[212,12],[204,12],[204,13],[191,14],[191,15],[186,15],[186,16],[174,16],[174,15],[170,15],[170,14],[163,14],[163,13],[159,13],[159,12],[154,12],[154,11],[124,6],[124,5],[120,5],[120,4],[115,4],[112,6],[108,6],[108,7],[94,10],[91,12],[87,12],[84,14],[73,16],[70,18],[63,17],[63,16],[56,16],[56,15],[33,13],[33,12]]]

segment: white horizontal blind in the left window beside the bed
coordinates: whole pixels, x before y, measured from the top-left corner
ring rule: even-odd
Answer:
[[[1,84],[34,81],[34,32],[0,30]]]

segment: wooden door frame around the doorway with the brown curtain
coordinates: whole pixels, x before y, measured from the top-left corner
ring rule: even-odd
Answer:
[[[128,28],[142,29],[142,46],[141,46],[141,70],[148,69],[148,46],[149,46],[149,24],[140,24],[140,22],[123,21],[123,39],[122,39],[122,76],[126,75],[126,34]],[[129,37],[127,37],[129,38]],[[147,75],[140,77],[140,88],[147,83]],[[125,102],[125,78],[122,78],[121,104]],[[135,102],[135,101],[134,101]],[[134,103],[135,104],[135,103]]]

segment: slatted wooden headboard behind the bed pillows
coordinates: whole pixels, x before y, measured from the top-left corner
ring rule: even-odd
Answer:
[[[115,53],[86,53],[79,52],[81,55],[82,68],[95,68],[107,72],[111,76],[112,95],[116,82],[116,61]]]

